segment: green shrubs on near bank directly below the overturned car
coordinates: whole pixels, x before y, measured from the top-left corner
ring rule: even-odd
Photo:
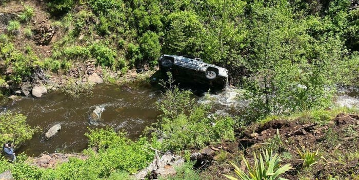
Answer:
[[[167,83],[162,83],[166,92],[157,103],[157,108],[163,112],[162,118],[148,129],[154,131],[152,135],[163,139],[162,149],[181,151],[234,140],[231,117],[208,118],[209,106],[196,104],[192,93],[174,86],[171,74],[169,77]]]

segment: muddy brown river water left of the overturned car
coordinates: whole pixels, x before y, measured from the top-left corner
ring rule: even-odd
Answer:
[[[1,111],[9,110],[27,116],[30,126],[43,130],[34,134],[18,151],[30,156],[43,152],[80,152],[87,147],[84,135],[90,129],[110,126],[116,131],[127,132],[129,138],[138,137],[146,126],[156,122],[159,112],[155,102],[161,92],[151,86],[119,87],[99,85],[93,89],[92,96],[72,98],[61,92],[46,94],[41,98],[24,98],[16,103],[10,102]],[[12,105],[11,105],[12,104]],[[96,106],[105,110],[101,119],[103,125],[94,126],[88,121],[89,114]],[[62,129],[48,141],[42,141],[47,129],[61,124]]]

